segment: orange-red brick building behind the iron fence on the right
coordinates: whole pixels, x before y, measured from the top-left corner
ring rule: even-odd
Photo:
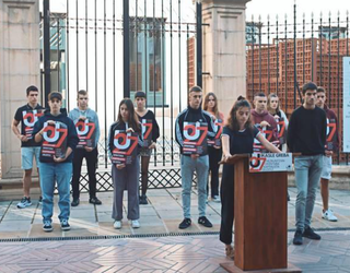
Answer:
[[[258,92],[261,85],[261,91],[265,94],[277,93],[282,109],[291,115],[294,110],[294,41],[293,39],[281,39],[273,43],[269,46],[261,45],[261,48],[258,45],[248,45],[246,51],[247,97],[253,100],[253,94]],[[317,85],[325,87],[328,97],[327,104],[339,116],[341,143],[342,57],[347,56],[347,43],[350,47],[350,41],[346,38],[339,39],[339,45],[338,39],[296,39],[296,82],[300,91],[302,91],[303,84],[312,79]],[[312,70],[313,63],[314,70]],[[330,91],[330,96],[328,91]],[[296,107],[300,105],[301,98],[296,92]],[[342,151],[342,146],[340,146],[340,151]],[[336,158],[335,155],[334,159],[336,161]],[[346,154],[340,153],[340,162],[346,162]]]

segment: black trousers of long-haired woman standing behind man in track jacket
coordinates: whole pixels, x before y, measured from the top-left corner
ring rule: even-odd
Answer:
[[[209,171],[211,174],[210,178],[210,188],[211,188],[211,197],[219,195],[219,167],[218,164],[222,157],[222,150],[208,147],[209,155]],[[209,178],[209,177],[208,177]],[[209,195],[209,187],[207,185],[207,194]]]

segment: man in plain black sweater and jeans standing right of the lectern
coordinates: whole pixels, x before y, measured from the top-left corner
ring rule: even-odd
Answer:
[[[316,106],[316,91],[317,85],[313,82],[304,84],[304,103],[293,111],[287,135],[290,152],[302,154],[294,159],[298,189],[294,245],[302,245],[303,237],[320,239],[320,236],[311,228],[311,219],[323,167],[323,155],[329,156],[331,152],[325,152],[327,117],[324,109]]]

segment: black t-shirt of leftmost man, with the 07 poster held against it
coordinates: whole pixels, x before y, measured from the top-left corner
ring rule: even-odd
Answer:
[[[45,108],[40,105],[32,108],[28,104],[26,104],[16,110],[14,119],[21,122],[21,134],[28,138],[27,142],[22,142],[22,147],[40,146],[40,143],[36,143],[34,141],[32,132],[36,121],[39,119],[39,117],[44,116],[44,109]]]

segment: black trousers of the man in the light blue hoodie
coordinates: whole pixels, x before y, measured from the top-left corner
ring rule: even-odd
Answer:
[[[89,176],[89,194],[90,198],[96,197],[96,167],[97,167],[97,147],[92,152],[86,152],[84,149],[75,149],[73,156],[73,178],[72,178],[72,189],[73,189],[73,199],[78,199],[80,195],[79,192],[79,178],[81,174],[81,165],[83,158],[86,159],[88,166],[88,176]]]

